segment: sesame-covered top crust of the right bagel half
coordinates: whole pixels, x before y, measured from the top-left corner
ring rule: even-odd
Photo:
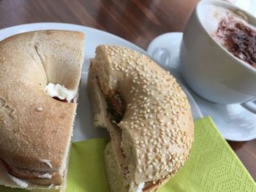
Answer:
[[[117,126],[130,180],[144,183],[174,174],[187,160],[194,137],[187,96],[146,55],[108,45],[97,47],[96,53],[90,78],[99,80],[103,94],[118,91],[127,104]]]

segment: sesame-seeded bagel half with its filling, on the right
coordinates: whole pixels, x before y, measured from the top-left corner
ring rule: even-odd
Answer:
[[[194,123],[187,96],[150,58],[101,45],[89,68],[94,126],[107,128],[111,191],[157,191],[189,157]]]

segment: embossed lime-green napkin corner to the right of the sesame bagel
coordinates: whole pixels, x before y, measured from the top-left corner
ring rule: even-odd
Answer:
[[[256,192],[256,183],[211,118],[195,121],[189,160],[159,192]]]

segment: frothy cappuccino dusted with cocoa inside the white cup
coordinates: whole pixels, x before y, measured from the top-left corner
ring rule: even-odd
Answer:
[[[209,34],[236,58],[256,69],[256,28],[246,22],[246,15],[214,5],[202,8],[200,20]]]

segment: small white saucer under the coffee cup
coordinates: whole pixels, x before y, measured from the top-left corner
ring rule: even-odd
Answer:
[[[225,139],[249,141],[256,138],[256,115],[240,104],[214,104],[197,96],[184,82],[178,70],[182,33],[167,33],[148,45],[148,54],[187,87],[204,116],[211,116]]]

